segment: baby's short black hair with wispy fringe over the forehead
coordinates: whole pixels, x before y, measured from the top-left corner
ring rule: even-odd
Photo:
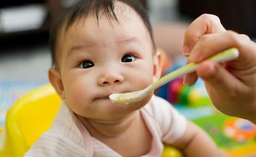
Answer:
[[[145,24],[150,38],[153,44],[154,51],[156,50],[156,45],[153,38],[153,31],[151,23],[149,22],[149,16],[145,8],[138,2],[138,0],[117,0],[119,2],[124,2],[128,6],[134,9],[136,13],[141,17],[143,23]],[[94,13],[96,15],[97,21],[99,18],[100,11],[103,11],[104,15],[111,19],[114,19],[117,23],[119,20],[114,11],[115,0],[78,0],[74,4],[72,4],[68,10],[55,21],[50,30],[50,38],[49,45],[51,49],[51,58],[52,58],[52,67],[58,69],[58,65],[56,65],[56,43],[58,40],[58,36],[61,28],[64,26],[65,33],[68,31],[70,26],[77,20],[83,19],[90,13]]]

